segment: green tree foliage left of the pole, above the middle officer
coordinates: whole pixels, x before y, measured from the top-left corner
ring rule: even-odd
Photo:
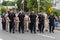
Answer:
[[[37,5],[37,0],[26,0],[27,1],[27,9],[29,10],[29,11],[31,11],[31,10],[34,10],[35,12],[37,12],[37,7],[38,7],[38,5]]]

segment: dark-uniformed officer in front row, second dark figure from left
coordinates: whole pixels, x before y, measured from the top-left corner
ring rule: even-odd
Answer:
[[[15,32],[14,32],[14,29],[15,29],[15,27],[14,27],[14,17],[15,17],[15,15],[14,15],[13,10],[10,11],[8,17],[9,17],[9,19],[10,19],[9,32],[11,33],[11,32],[13,31],[13,33],[15,33]]]

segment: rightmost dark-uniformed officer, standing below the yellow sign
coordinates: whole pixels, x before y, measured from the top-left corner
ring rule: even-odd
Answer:
[[[55,15],[53,13],[50,13],[50,16],[48,19],[49,19],[49,32],[54,33],[54,29],[55,29],[54,21],[56,20]]]

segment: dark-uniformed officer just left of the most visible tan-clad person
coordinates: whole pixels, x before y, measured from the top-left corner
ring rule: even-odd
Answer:
[[[20,13],[18,15],[19,18],[19,33],[22,31],[22,33],[24,33],[24,15],[23,15],[23,11],[22,9],[20,10]]]

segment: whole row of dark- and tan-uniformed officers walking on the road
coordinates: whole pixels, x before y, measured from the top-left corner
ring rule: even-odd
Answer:
[[[38,30],[40,33],[44,33],[45,26],[49,23],[49,32],[54,33],[54,22],[57,20],[53,13],[45,17],[43,12],[40,11],[38,15],[34,11],[32,11],[29,15],[28,13],[23,13],[22,10],[17,12],[13,12],[11,10],[9,13],[3,13],[2,16],[2,29],[5,31],[9,31],[10,33],[15,33],[18,31],[19,33],[24,33],[25,31],[30,31],[31,33],[36,33]],[[36,21],[37,20],[37,21]],[[49,20],[49,21],[45,21]],[[47,23],[48,22],[48,23]],[[47,23],[45,25],[45,23]],[[37,25],[36,25],[37,24]],[[45,29],[46,30],[46,29]]]

